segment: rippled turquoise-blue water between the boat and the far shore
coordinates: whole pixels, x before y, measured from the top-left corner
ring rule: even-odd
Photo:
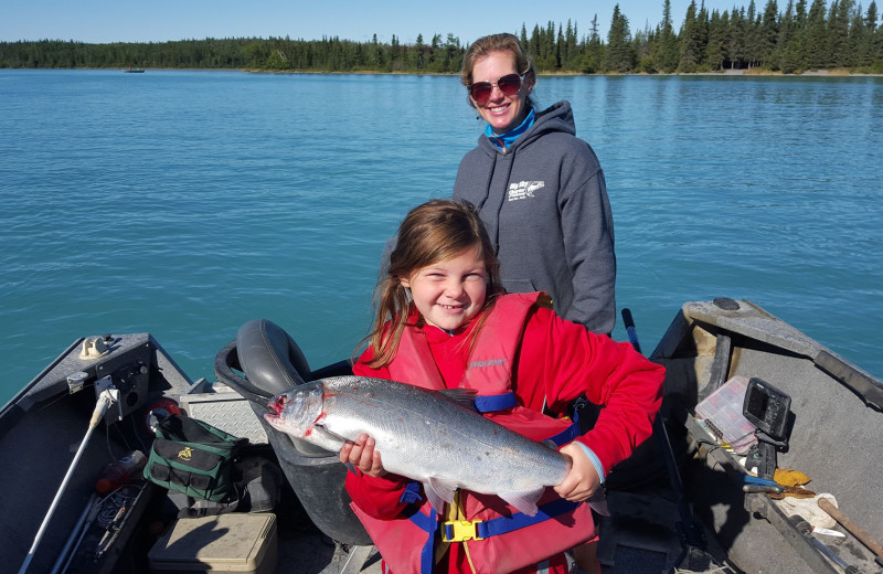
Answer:
[[[536,95],[571,100],[600,158],[646,352],[725,296],[883,375],[883,78]],[[384,241],[450,194],[481,128],[453,76],[0,71],[0,404],[105,332],[151,332],[193,379],[254,318],[313,368],[349,357]]]

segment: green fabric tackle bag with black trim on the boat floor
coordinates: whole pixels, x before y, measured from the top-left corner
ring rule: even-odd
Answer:
[[[145,478],[201,500],[237,498],[234,461],[248,439],[237,438],[184,415],[170,415],[156,426]]]

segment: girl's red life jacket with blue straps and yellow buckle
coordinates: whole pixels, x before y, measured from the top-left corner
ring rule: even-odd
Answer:
[[[551,438],[565,444],[576,436],[576,425],[518,405],[511,391],[512,363],[528,313],[541,295],[513,294],[497,299],[474,341],[460,386],[478,391],[479,411],[503,411],[493,414],[494,422],[534,440]],[[403,332],[389,370],[394,380],[445,389],[426,337],[416,328],[408,327]],[[416,493],[416,483],[412,487]],[[465,520],[440,524],[444,517],[438,517],[426,500],[419,506],[411,504],[393,520],[372,518],[355,503],[351,506],[394,574],[433,571],[435,533],[439,528],[444,540],[465,545],[472,571],[478,574],[507,573],[539,564],[596,538],[588,504],[563,500],[552,488],[538,502],[535,517],[522,514],[499,497],[462,490],[459,510]]]

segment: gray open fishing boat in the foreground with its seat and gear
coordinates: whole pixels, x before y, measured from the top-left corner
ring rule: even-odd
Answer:
[[[629,316],[626,325],[640,350]],[[21,573],[379,573],[337,455],[260,416],[276,392],[351,374],[350,364],[311,370],[294,338],[264,319],[231,336],[210,379],[191,379],[150,333],[111,333],[77,339],[24,385],[0,410],[2,562]],[[759,306],[728,298],[684,304],[649,357],[667,368],[662,410],[653,436],[609,474],[602,572],[877,571],[879,380]],[[714,401],[755,423],[759,446],[746,460],[756,469],[724,439],[725,421],[702,414]],[[135,449],[148,454],[157,421],[179,411],[247,438],[237,464],[257,470],[240,506],[194,501],[140,472],[96,493],[107,466]],[[805,489],[833,497],[830,528],[800,520],[816,498],[774,496],[779,487],[763,481],[770,460],[772,470],[799,471],[811,479]],[[767,488],[747,488],[757,486]]]

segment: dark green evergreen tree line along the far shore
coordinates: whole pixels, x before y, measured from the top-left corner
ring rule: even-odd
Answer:
[[[876,3],[854,0],[788,0],[780,10],[767,0],[711,12],[693,0],[675,31],[670,0],[662,21],[631,32],[614,8],[606,39],[595,15],[587,33],[576,22],[522,25],[520,40],[540,73],[691,73],[762,68],[786,74],[847,68],[883,73],[883,24]],[[468,46],[453,34],[417,35],[413,44],[392,36],[379,42],[340,38],[241,38],[175,42],[89,44],[41,40],[0,42],[0,67],[235,68],[289,72],[457,73]]]

